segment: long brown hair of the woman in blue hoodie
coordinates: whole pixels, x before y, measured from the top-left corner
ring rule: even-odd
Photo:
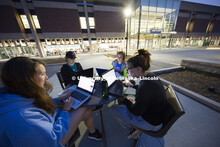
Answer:
[[[36,71],[39,64],[45,66],[42,61],[28,57],[12,58],[4,64],[1,78],[9,93],[33,98],[38,108],[54,114],[56,105],[48,94],[53,87],[47,81],[44,87],[39,84]]]

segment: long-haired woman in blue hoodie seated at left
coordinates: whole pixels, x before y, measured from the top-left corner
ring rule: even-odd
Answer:
[[[89,131],[97,132],[90,108],[71,110],[70,90],[55,99],[50,97],[52,85],[46,81],[43,62],[12,58],[3,66],[1,78],[6,89],[0,94],[0,146],[63,146],[82,120]],[[57,109],[65,99],[63,108]]]

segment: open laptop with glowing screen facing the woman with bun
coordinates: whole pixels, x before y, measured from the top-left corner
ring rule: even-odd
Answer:
[[[110,69],[102,74],[102,78],[108,83],[109,93],[116,96],[123,96],[122,81],[117,80],[115,70]]]

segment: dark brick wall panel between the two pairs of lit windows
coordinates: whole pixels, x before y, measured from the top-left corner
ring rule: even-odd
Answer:
[[[76,10],[35,8],[42,32],[81,32]]]

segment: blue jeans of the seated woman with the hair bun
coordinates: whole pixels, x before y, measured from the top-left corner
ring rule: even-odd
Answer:
[[[162,127],[162,125],[159,126],[151,125],[141,116],[133,115],[125,105],[113,105],[111,107],[111,111],[114,117],[117,119],[117,121],[124,128],[130,128],[129,125],[132,125],[143,130],[156,131]]]

